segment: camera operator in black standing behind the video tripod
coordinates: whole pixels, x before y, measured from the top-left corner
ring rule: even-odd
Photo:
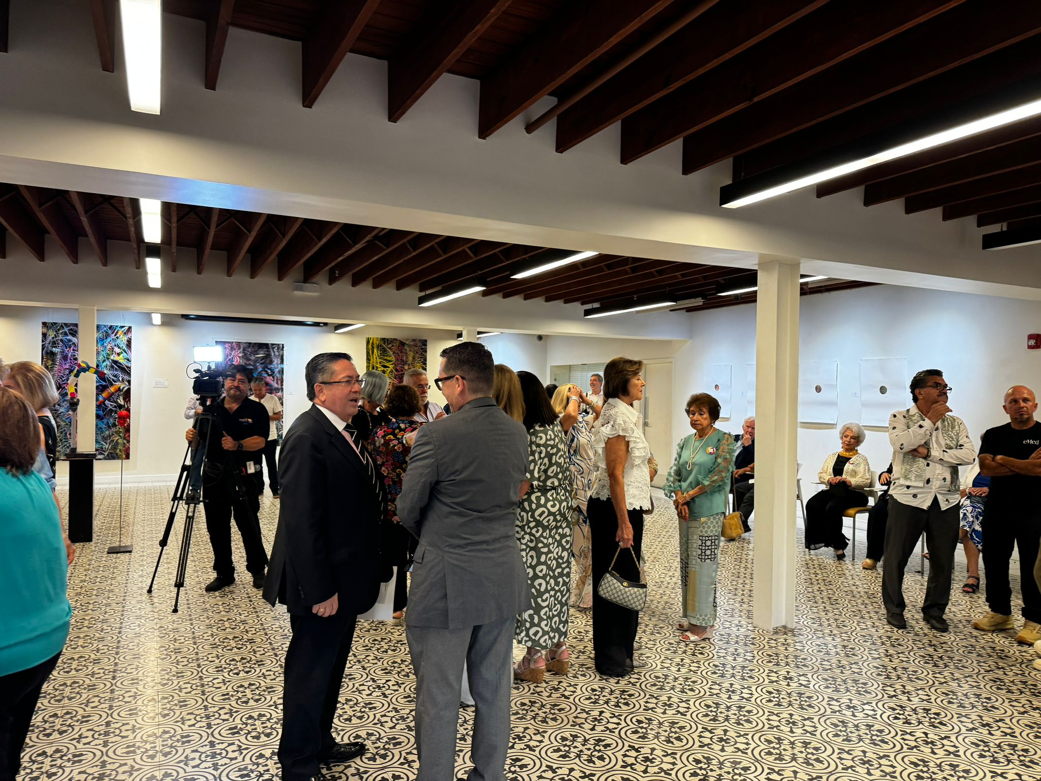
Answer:
[[[213,422],[203,471],[203,508],[217,572],[206,586],[207,591],[219,591],[235,582],[231,559],[232,513],[243,537],[246,569],[253,575],[253,587],[263,588],[268,554],[257,520],[260,502],[253,475],[260,469],[270,424],[263,404],[247,398],[252,381],[253,373],[248,368],[228,367],[224,396],[206,407],[206,412],[213,414]],[[194,442],[196,430],[188,429],[185,438]]]

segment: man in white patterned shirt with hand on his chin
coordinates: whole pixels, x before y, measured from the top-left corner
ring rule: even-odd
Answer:
[[[937,632],[948,631],[943,612],[950,600],[950,574],[958,547],[958,468],[975,460],[975,448],[965,424],[950,414],[947,406],[950,391],[939,369],[918,372],[911,380],[914,405],[893,412],[889,419],[893,475],[882,602],[886,621],[897,629],[907,628],[904,568],[924,530],[930,569],[922,618]]]

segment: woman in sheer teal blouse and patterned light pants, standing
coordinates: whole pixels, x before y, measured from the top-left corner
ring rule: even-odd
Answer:
[[[734,473],[734,439],[715,427],[719,402],[708,394],[687,400],[694,433],[676,449],[665,492],[680,519],[680,583],[683,619],[677,629],[687,643],[707,640],[715,631],[719,534]]]

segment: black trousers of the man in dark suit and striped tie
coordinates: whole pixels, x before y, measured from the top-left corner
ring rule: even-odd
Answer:
[[[342,607],[334,615],[290,615],[293,638],[285,653],[282,738],[278,761],[283,781],[319,772],[322,755],[336,745],[332,720],[351,653],[358,616]]]

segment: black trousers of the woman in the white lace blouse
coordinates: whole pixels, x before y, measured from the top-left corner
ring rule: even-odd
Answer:
[[[611,568],[618,550],[615,535],[618,519],[610,500],[590,499],[587,505],[592,540],[592,653],[596,672],[620,678],[633,672],[633,644],[640,614],[600,596],[596,586]],[[643,510],[629,510],[633,527],[633,553],[640,557],[643,547]],[[639,580],[639,568],[628,552],[621,551],[614,572],[627,580]]]

